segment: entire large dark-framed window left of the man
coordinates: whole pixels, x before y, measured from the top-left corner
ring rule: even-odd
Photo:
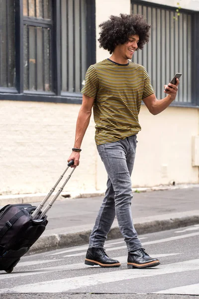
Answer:
[[[95,62],[94,0],[0,0],[0,100],[81,103]]]

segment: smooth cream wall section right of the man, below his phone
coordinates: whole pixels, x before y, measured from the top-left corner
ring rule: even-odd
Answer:
[[[199,135],[199,109],[168,107],[153,116],[142,106],[139,119],[142,131],[133,184],[199,183],[199,167],[192,166],[192,137]]]

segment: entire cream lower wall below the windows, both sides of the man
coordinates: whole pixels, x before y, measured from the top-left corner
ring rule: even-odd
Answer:
[[[80,105],[0,101],[0,193],[48,192],[61,175],[74,143]],[[199,183],[192,166],[199,109],[169,107],[153,116],[141,107],[133,187]],[[94,141],[93,117],[80,166],[65,191],[104,190],[106,173]],[[199,155],[199,152],[196,154]],[[198,159],[198,158],[197,158]],[[196,161],[197,161],[196,159]]]

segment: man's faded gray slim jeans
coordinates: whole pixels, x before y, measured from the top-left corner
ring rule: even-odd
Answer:
[[[108,174],[108,180],[105,197],[89,239],[89,247],[103,247],[116,214],[128,252],[142,248],[133,226],[131,213],[133,197],[131,173],[136,144],[136,135],[133,135],[123,140],[97,146]]]

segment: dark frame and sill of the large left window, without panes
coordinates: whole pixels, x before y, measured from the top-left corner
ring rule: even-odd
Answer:
[[[0,100],[51,103],[82,103],[81,93],[61,91],[61,22],[60,0],[52,0],[52,21],[23,16],[23,0],[15,0],[15,67],[16,88],[0,88]],[[87,0],[87,67],[96,63],[96,5]],[[52,26],[52,92],[23,90],[23,25]],[[56,38],[55,38],[56,37]],[[53,53],[53,54],[52,54]]]

